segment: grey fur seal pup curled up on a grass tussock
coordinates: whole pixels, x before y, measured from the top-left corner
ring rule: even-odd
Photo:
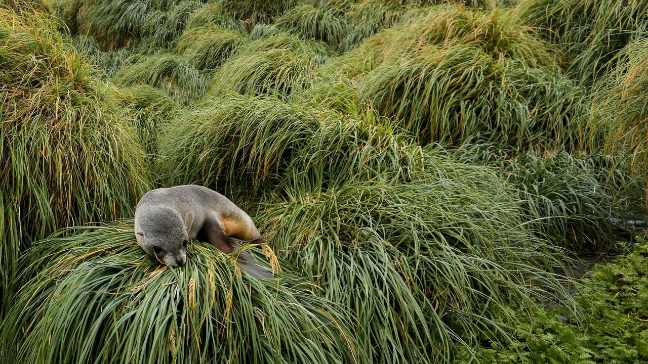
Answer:
[[[137,244],[151,256],[169,266],[187,262],[187,242],[209,242],[229,254],[240,246],[230,238],[257,240],[261,234],[252,219],[225,196],[207,187],[183,185],[150,190],[135,209]],[[272,278],[248,253],[238,253],[240,267],[257,278]]]

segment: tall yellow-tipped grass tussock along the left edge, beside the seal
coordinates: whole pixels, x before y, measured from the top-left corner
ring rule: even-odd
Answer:
[[[0,284],[55,229],[124,217],[150,186],[128,115],[49,16],[0,8]]]

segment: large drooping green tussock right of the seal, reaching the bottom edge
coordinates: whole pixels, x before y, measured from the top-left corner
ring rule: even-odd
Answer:
[[[411,183],[313,190],[295,177],[255,216],[277,255],[367,328],[360,347],[373,362],[447,361],[513,324],[489,307],[527,306],[542,290],[565,297],[538,269],[561,253],[526,231],[513,191],[488,169],[434,162]]]

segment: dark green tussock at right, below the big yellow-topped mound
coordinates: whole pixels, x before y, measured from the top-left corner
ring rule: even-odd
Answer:
[[[527,219],[554,244],[572,251],[616,244],[610,219],[625,210],[627,196],[618,187],[627,176],[610,176],[603,155],[520,152],[496,143],[465,144],[452,154],[457,161],[494,166],[519,191]]]

